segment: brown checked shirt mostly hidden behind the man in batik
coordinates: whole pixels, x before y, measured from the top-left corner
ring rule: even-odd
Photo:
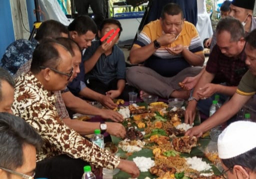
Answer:
[[[14,75],[14,79],[19,77],[23,73],[27,73],[30,71],[30,66],[31,66],[32,60],[27,61],[24,65],[22,65],[17,73]],[[68,111],[66,109],[65,103],[63,101],[63,98],[61,96],[61,91],[54,91],[56,95],[56,103],[54,104],[57,112],[60,116],[61,119],[69,118]]]

